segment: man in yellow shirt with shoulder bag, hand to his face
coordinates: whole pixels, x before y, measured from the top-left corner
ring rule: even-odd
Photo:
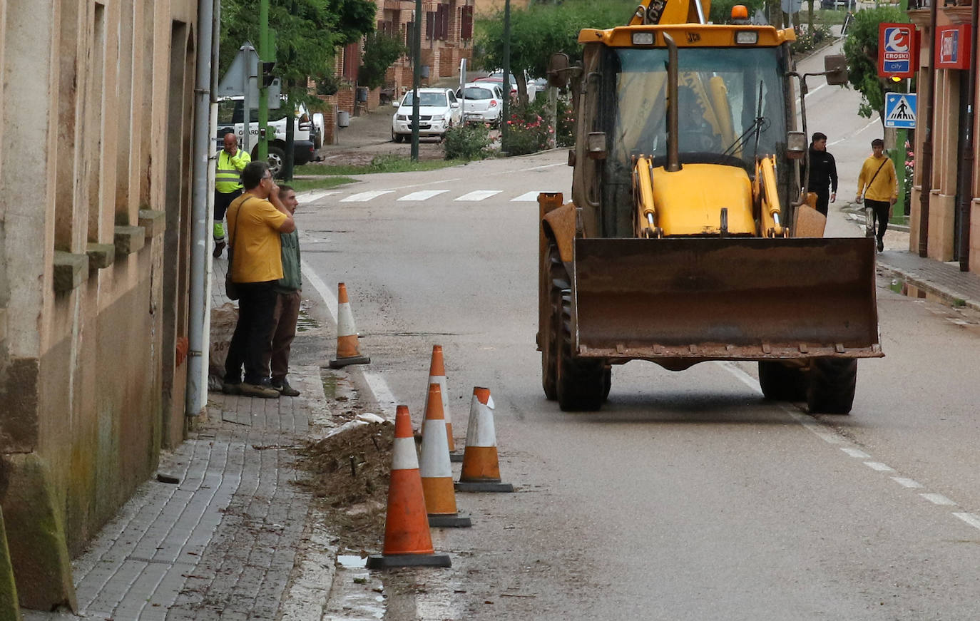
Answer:
[[[275,399],[278,391],[264,382],[269,378],[265,352],[272,330],[272,313],[282,278],[280,233],[296,230],[293,216],[279,201],[279,186],[269,165],[251,162],[242,170],[245,193],[228,207],[228,268],[238,285],[238,323],[224,360],[226,394]],[[242,365],[245,381],[242,381]]]

